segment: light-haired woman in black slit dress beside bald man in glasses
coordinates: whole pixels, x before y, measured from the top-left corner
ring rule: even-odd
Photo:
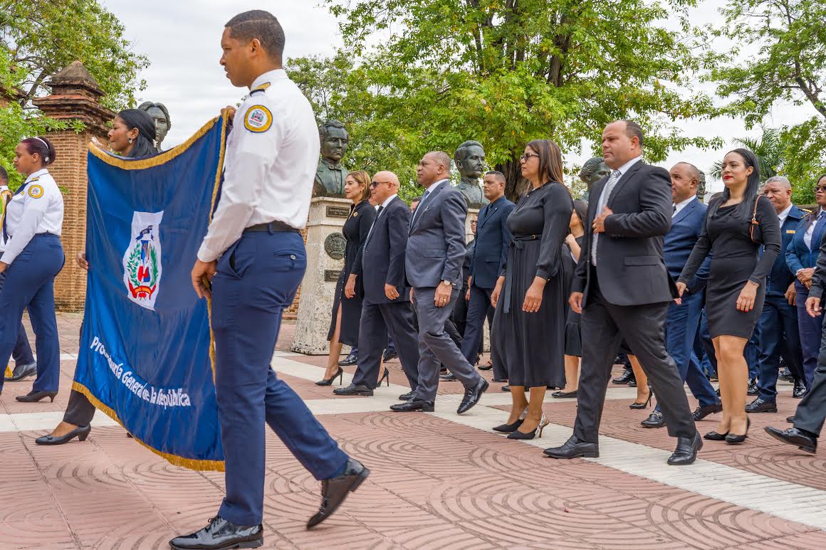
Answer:
[[[344,269],[335,284],[332,320],[327,339],[330,340],[330,355],[327,357],[327,370],[324,379],[316,382],[318,386],[330,386],[335,378],[344,376],[339,367],[342,344],[358,345],[358,325],[361,322],[361,302],[364,288],[360,279],[361,259],[364,240],[376,219],[376,208],[370,204],[370,175],[363,170],[351,172],[344,179],[344,197],[353,201],[350,216],[344,222],[341,232],[347,239],[344,249]],[[387,368],[380,380],[387,375]]]

